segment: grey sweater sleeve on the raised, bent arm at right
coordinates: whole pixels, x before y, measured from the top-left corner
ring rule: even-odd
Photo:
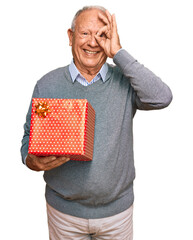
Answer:
[[[161,109],[170,104],[172,101],[170,88],[126,50],[118,51],[113,61],[129,79],[134,90],[133,103],[138,109]]]

